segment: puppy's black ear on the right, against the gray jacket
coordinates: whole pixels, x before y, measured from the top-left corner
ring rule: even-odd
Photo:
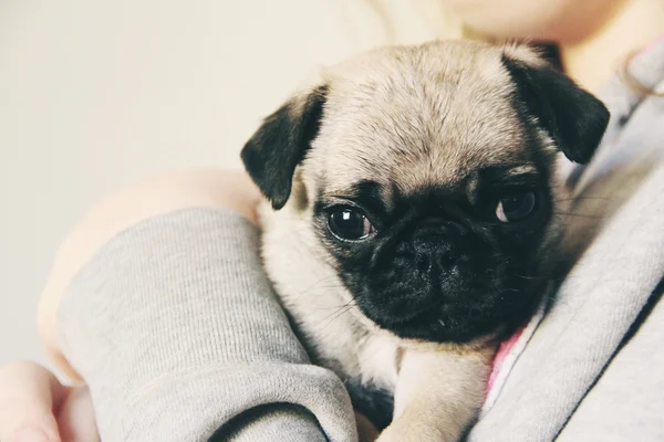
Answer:
[[[564,155],[574,162],[590,161],[609,124],[604,104],[550,66],[530,66],[507,55],[502,64],[517,86],[521,105],[538,118]]]

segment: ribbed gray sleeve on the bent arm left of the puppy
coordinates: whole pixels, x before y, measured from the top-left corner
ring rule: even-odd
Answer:
[[[347,393],[309,362],[258,256],[220,209],[136,224],[102,246],[59,311],[104,442],[355,441]]]

